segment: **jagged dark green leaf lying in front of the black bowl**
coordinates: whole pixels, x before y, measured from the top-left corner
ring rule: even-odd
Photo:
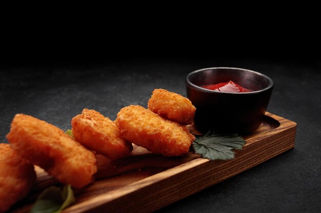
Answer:
[[[238,134],[219,134],[209,131],[205,135],[195,135],[195,153],[210,160],[230,160],[234,158],[233,149],[240,150],[246,140]]]

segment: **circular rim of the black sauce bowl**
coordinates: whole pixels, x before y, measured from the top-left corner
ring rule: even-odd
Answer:
[[[203,72],[203,71],[209,70],[209,69],[235,69],[235,70],[244,70],[244,71],[246,71],[246,72],[255,73],[256,75],[263,76],[264,78],[268,79],[269,85],[268,85],[267,87],[265,87],[264,89],[260,89],[260,90],[256,90],[256,91],[251,91],[251,92],[224,92],[224,91],[214,91],[214,90],[211,90],[211,89],[206,89],[206,88],[197,86],[197,85],[193,84],[193,83],[190,81],[189,78],[190,78],[190,76],[192,76],[193,74],[195,74],[195,73],[200,73],[200,72]],[[188,86],[190,86],[190,87],[192,87],[192,88],[194,88],[194,89],[196,89],[196,90],[203,91],[203,92],[220,93],[220,94],[222,94],[222,93],[228,93],[228,94],[236,94],[236,95],[243,95],[243,96],[244,96],[245,94],[260,93],[260,92],[266,91],[266,90],[268,90],[268,89],[270,89],[271,87],[274,86],[274,82],[273,82],[273,80],[272,80],[270,77],[268,77],[268,76],[266,76],[266,75],[264,75],[264,74],[262,74],[262,73],[258,73],[258,72],[256,72],[256,71],[250,70],[250,69],[243,69],[243,68],[237,68],[237,67],[209,67],[209,68],[197,69],[197,70],[194,70],[193,72],[190,72],[190,73],[186,76],[186,78],[185,78],[185,83],[186,83]]]

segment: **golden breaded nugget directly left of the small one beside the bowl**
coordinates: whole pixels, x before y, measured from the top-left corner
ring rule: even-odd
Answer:
[[[124,138],[164,156],[186,154],[195,139],[186,126],[166,120],[142,106],[124,107],[118,112],[115,123]]]

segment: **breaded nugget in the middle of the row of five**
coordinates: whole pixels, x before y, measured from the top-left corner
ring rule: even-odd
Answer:
[[[71,120],[72,134],[79,143],[111,160],[130,155],[133,146],[116,125],[95,110],[84,109]]]

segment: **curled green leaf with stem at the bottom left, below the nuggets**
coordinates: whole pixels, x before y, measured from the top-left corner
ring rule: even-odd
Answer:
[[[70,185],[65,185],[63,190],[56,186],[51,186],[39,195],[30,212],[59,213],[75,201]]]

